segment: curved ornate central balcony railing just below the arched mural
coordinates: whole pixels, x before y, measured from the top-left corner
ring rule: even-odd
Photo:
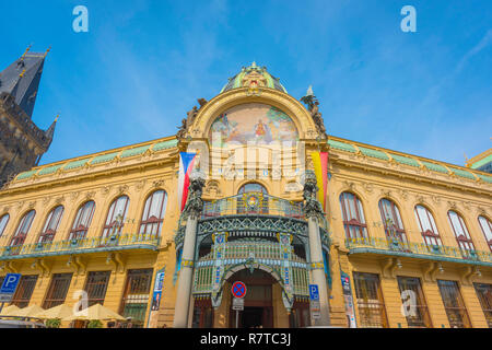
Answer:
[[[246,192],[226,197],[203,205],[202,219],[222,215],[278,215],[304,219],[300,201],[272,197],[262,192]]]

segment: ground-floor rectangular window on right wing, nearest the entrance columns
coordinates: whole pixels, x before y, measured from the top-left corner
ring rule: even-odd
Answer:
[[[375,273],[353,272],[353,279],[361,327],[386,328],[388,324],[379,277]]]

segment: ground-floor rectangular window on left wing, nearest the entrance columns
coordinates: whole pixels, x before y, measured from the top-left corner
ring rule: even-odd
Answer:
[[[128,270],[120,315],[131,317],[131,325],[142,328],[149,304],[152,269]]]

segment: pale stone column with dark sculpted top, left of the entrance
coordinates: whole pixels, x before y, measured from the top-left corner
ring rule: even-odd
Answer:
[[[188,327],[192,278],[195,271],[195,246],[197,242],[198,217],[203,208],[201,191],[204,180],[201,177],[191,179],[188,201],[183,214],[187,217],[185,241],[183,244],[181,269],[179,271],[174,314],[174,328]]]

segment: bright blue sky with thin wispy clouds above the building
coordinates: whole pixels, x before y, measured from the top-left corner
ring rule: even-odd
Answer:
[[[89,33],[72,10],[89,9]],[[417,33],[403,33],[403,5]],[[33,119],[60,113],[42,164],[171,136],[256,61],[309,84],[333,136],[465,163],[491,147],[492,2],[0,1],[0,70],[52,46]]]

